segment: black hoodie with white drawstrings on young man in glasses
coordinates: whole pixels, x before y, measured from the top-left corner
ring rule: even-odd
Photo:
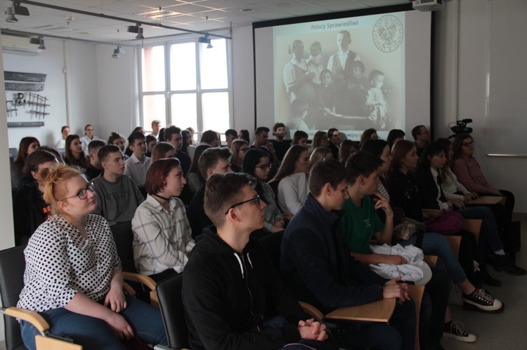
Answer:
[[[278,349],[300,339],[297,324],[311,318],[285,293],[266,250],[251,238],[240,255],[205,229],[183,272],[183,306],[190,347]],[[260,329],[283,316],[291,324]]]

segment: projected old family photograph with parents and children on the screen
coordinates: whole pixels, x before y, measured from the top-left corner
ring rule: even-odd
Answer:
[[[371,31],[372,26],[363,26],[277,36],[275,107],[280,121],[304,131],[404,125],[404,59],[400,52],[379,51]]]

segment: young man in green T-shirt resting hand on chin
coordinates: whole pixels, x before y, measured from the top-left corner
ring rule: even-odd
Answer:
[[[379,168],[384,162],[375,154],[358,151],[346,161],[349,199],[344,202],[342,225],[346,243],[351,255],[365,265],[368,264],[406,264],[401,255],[373,254],[370,241],[375,238],[381,244],[391,245],[393,236],[393,211],[389,202],[379,192]],[[374,195],[372,200],[370,195]],[[386,221],[382,224],[376,209],[382,209]],[[450,296],[450,276],[440,269],[431,269],[431,280],[425,286],[419,318],[419,342],[422,349],[440,349],[443,328],[449,337],[463,342],[475,342],[476,336],[465,332],[461,323],[453,323],[447,311]],[[428,316],[427,316],[428,315]],[[446,324],[445,324],[446,321]],[[455,325],[455,328],[452,328]],[[450,332],[454,330],[454,332]],[[457,331],[459,330],[459,335]]]

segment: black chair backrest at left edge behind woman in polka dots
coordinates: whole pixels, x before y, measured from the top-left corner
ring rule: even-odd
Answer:
[[[0,293],[4,307],[15,307],[24,287],[25,245],[0,251]],[[23,346],[20,325],[15,318],[4,316],[6,349]],[[22,348],[23,349],[23,348]]]

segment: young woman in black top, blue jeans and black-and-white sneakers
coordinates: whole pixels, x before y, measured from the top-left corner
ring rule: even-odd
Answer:
[[[386,179],[391,203],[393,203],[393,206],[403,208],[406,217],[423,221],[424,217],[422,213],[421,197],[419,196],[419,191],[415,186],[410,171],[417,167],[417,161],[419,160],[415,144],[408,140],[400,140],[396,142],[396,144],[393,145],[392,156],[393,171]],[[486,290],[476,288],[476,286],[480,286],[479,278],[486,276],[481,275],[478,276],[478,278],[474,275],[473,252],[474,250],[477,250],[477,246],[474,247],[476,243],[471,240],[470,236],[473,235],[462,235],[459,263],[455,259],[455,255],[453,254],[450,245],[448,245],[447,241],[441,234],[424,234],[422,246],[420,248],[424,253],[439,252],[441,250],[443,252],[441,255],[444,255],[445,257],[450,255],[450,258],[445,260],[446,269],[453,278],[454,283],[457,283],[462,289],[464,298],[468,295],[472,297],[479,296],[479,300],[484,304],[486,303],[486,306],[492,309],[490,311],[499,310],[502,308],[502,303],[499,300],[494,299],[488,294],[488,292],[486,292]],[[400,240],[398,243],[403,246],[409,244],[415,245],[416,241],[417,235],[414,235],[410,239]],[[439,255],[439,253],[437,254]],[[452,257],[454,257],[454,259],[452,259]],[[462,269],[459,269],[460,266]],[[493,281],[489,278],[490,276],[486,277],[486,280],[492,283]],[[489,284],[488,281],[486,283]],[[497,281],[497,283],[499,283],[499,281]]]

